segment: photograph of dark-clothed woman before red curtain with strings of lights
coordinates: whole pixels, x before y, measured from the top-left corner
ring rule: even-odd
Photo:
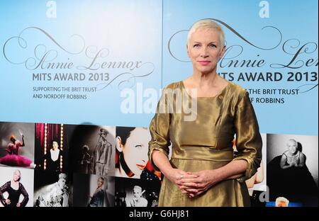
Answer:
[[[69,135],[63,124],[35,124],[35,169],[68,171]]]

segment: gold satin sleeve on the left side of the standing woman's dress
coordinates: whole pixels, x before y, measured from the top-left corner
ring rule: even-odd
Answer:
[[[157,109],[154,118],[150,123],[150,135],[152,140],[148,143],[148,157],[152,166],[159,171],[152,160],[152,153],[159,151],[167,156],[169,155],[169,125],[171,123],[171,114],[168,109],[166,89],[163,89],[162,96],[157,104]]]

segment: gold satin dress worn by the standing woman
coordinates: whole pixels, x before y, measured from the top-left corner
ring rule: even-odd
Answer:
[[[245,180],[254,175],[260,165],[262,137],[247,91],[229,83],[214,97],[191,98],[188,93],[181,93],[183,102],[188,102],[189,107],[191,102],[197,102],[197,110],[193,110],[196,120],[185,120],[189,112],[172,111],[179,110],[177,96],[165,96],[169,94],[167,91],[178,90],[186,91],[182,81],[169,84],[163,90],[157,113],[150,123],[150,162],[155,150],[168,156],[172,142],[170,162],[174,168],[191,172],[218,169],[237,159],[245,159],[248,166],[245,176],[221,181],[195,198],[188,198],[164,177],[159,206],[250,206]],[[163,106],[170,111],[162,111]],[[234,135],[238,152],[235,158]]]

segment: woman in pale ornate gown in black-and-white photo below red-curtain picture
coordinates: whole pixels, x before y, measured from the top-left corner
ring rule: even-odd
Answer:
[[[69,191],[67,187],[67,174],[59,174],[59,180],[45,188],[36,200],[38,207],[67,207],[69,206]]]

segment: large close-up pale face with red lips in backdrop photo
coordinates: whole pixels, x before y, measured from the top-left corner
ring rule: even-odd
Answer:
[[[123,146],[123,155],[128,168],[140,176],[146,166],[148,156],[148,142],[151,140],[150,132],[145,128],[135,128]]]

